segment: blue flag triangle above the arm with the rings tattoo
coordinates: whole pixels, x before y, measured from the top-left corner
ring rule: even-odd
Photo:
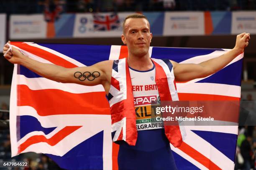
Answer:
[[[69,56],[86,66],[109,59],[111,46],[83,44],[39,44]]]

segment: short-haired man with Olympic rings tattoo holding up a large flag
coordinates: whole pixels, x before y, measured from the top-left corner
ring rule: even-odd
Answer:
[[[157,76],[159,75],[158,70],[166,70],[164,69],[164,66],[159,66],[156,61],[151,60],[149,57],[148,49],[151,43],[152,39],[152,33],[150,33],[150,25],[148,23],[147,18],[144,15],[141,14],[132,14],[129,15],[127,18],[125,18],[123,23],[123,35],[121,36],[121,39],[124,44],[128,47],[128,58],[127,61],[123,61],[124,63],[128,63],[127,67],[128,75],[127,79],[120,79],[121,81],[127,81],[127,85],[132,85],[132,96],[134,96],[134,99],[142,96],[157,96],[157,98],[161,98],[161,95],[163,94],[163,89],[160,88],[159,84],[161,82],[156,81]],[[208,61],[199,63],[199,64],[179,64],[174,61],[164,61],[166,62],[166,66],[168,65],[169,68],[172,68],[172,74],[174,74],[176,81],[189,81],[192,79],[197,78],[203,78],[206,76],[209,76],[216,71],[219,71],[224,66],[226,66],[230,61],[232,61],[236,56],[238,56],[240,53],[243,52],[243,48],[248,46],[248,41],[250,39],[249,33],[242,33],[237,36],[236,38],[236,46],[228,51],[227,53],[223,54],[222,56],[219,56],[217,58],[210,59]],[[3,53],[7,52],[8,45],[5,45],[3,48]],[[86,54],[85,54],[86,55]],[[47,79],[51,79],[54,81],[59,81],[62,83],[77,83],[82,84],[86,86],[95,86],[97,84],[102,84],[105,92],[108,96],[114,95],[112,93],[115,92],[113,90],[113,86],[115,83],[115,80],[118,79],[118,77],[115,77],[116,73],[120,73],[120,70],[122,67],[118,67],[118,65],[121,63],[120,61],[102,61],[99,63],[96,63],[92,66],[88,67],[77,67],[73,69],[66,69],[61,66],[46,64],[46,63],[40,63],[38,61],[35,61],[31,58],[28,58],[27,56],[24,56],[20,51],[13,48],[11,52],[8,52],[7,55],[5,55],[5,58],[10,61],[11,63],[18,63],[21,64],[31,71],[46,77]],[[169,63],[168,63],[169,62]],[[117,67],[115,67],[117,66]],[[126,65],[123,65],[124,67]],[[168,68],[167,67],[167,68]],[[123,68],[124,69],[124,68]],[[166,71],[163,72],[165,74]],[[167,74],[166,74],[167,75]],[[171,75],[172,76],[172,75]],[[114,78],[113,78],[114,77]],[[119,76],[119,78],[124,77],[124,75]],[[146,90],[146,84],[148,84],[149,79],[151,79],[151,89]],[[116,78],[116,79],[115,79]],[[159,78],[159,77],[158,77]],[[163,79],[162,79],[163,80]],[[156,82],[155,82],[156,81]],[[122,83],[122,82],[120,82]],[[146,83],[146,84],[145,84]],[[174,86],[175,83],[172,81],[171,83],[167,83],[167,86]],[[126,86],[126,84],[125,84]],[[138,88],[137,88],[138,87]],[[153,88],[155,87],[155,88]],[[123,91],[125,88],[118,85],[116,87],[119,88],[119,91]],[[144,88],[144,89],[143,89]],[[121,89],[121,90],[120,90]],[[166,88],[165,88],[166,89]],[[126,91],[125,91],[126,90]],[[129,88],[125,89],[125,94],[127,91],[129,91]],[[149,91],[149,92],[148,92]],[[176,89],[174,89],[174,92],[177,94]],[[166,93],[172,93],[172,91],[166,91]],[[174,93],[174,94],[175,94]],[[122,96],[122,95],[121,95]],[[116,97],[114,95],[114,97]],[[120,98],[120,96],[118,96]],[[117,99],[119,99],[117,97]],[[176,96],[177,97],[177,96]],[[110,97],[109,97],[110,99]],[[162,99],[161,99],[162,100]],[[177,99],[176,99],[177,100]],[[120,102],[124,101],[120,100]],[[133,103],[133,101],[132,101]],[[131,104],[131,103],[130,103]],[[118,105],[118,103],[111,104],[110,103],[110,110],[111,107],[114,107]],[[120,104],[119,104],[120,105]],[[115,118],[119,117],[119,114],[123,114],[124,108],[130,107],[128,104],[124,104],[124,107],[120,107],[121,110],[119,110],[118,105],[118,113],[111,112],[111,118],[112,123],[115,124]],[[131,104],[133,106],[133,104]],[[142,104],[143,105],[143,104]],[[141,117],[145,117],[145,114],[142,115],[143,108],[141,109],[140,114],[138,114],[138,107],[140,104],[136,103],[134,101],[134,106],[136,106],[136,120],[141,119]],[[133,114],[135,118],[134,113],[134,106],[133,106]],[[143,105],[144,106],[144,105]],[[114,110],[114,109],[113,109]],[[120,112],[119,112],[120,111]],[[144,110],[145,111],[145,110]],[[125,116],[131,117],[131,115],[124,113]],[[149,115],[149,114],[147,114]],[[126,118],[123,116],[124,118]],[[121,117],[121,118],[123,118]],[[120,119],[121,119],[120,118]],[[118,121],[120,120],[118,119]],[[123,120],[123,119],[121,119]],[[130,121],[133,121],[133,118],[130,119]],[[128,118],[127,118],[128,121]],[[134,120],[135,121],[135,120]],[[159,127],[150,127],[143,126],[143,129],[141,126],[137,126],[138,130],[138,137],[137,137],[137,131],[132,131],[131,135],[124,133],[125,129],[132,129],[133,127],[130,126],[131,124],[126,123],[126,125],[123,125],[123,122],[119,121],[117,122],[122,124],[122,127],[119,134],[114,136],[115,140],[120,140],[120,149],[118,154],[118,166],[120,170],[123,169],[177,169],[172,152],[169,147],[169,142],[172,142],[171,140],[175,137],[172,137],[172,131],[173,129],[169,129],[169,132],[166,133],[163,130],[163,126]],[[137,123],[137,121],[136,121]],[[112,125],[113,128],[113,125]],[[118,131],[118,130],[116,130]],[[117,132],[116,132],[117,133]],[[166,135],[165,135],[166,134]],[[126,136],[125,136],[126,135]],[[125,142],[123,142],[125,141]],[[179,146],[179,143],[176,143],[176,146]],[[130,145],[128,145],[130,144]],[[136,145],[135,145],[136,144]],[[135,145],[135,146],[133,146]],[[174,145],[175,146],[175,145]]]

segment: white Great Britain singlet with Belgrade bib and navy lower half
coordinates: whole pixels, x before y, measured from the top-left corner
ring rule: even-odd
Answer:
[[[120,142],[119,170],[176,170],[163,122],[156,121],[155,107],[160,97],[155,82],[156,69],[138,71],[129,67],[133,87],[138,138],[135,146]]]

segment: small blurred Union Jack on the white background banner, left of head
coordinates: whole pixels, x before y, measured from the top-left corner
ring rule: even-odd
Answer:
[[[95,31],[115,30],[120,27],[120,20],[117,14],[94,14],[93,18]]]

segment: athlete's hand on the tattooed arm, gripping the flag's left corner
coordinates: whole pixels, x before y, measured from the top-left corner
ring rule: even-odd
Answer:
[[[10,43],[10,41],[8,41],[8,43]],[[6,53],[6,51],[8,51],[8,48],[10,46],[8,44],[5,44],[4,48],[3,48],[3,53]],[[20,63],[20,59],[23,57],[24,55],[17,49],[12,47],[12,50],[9,51],[4,57],[10,61],[10,63],[16,64],[16,63]]]

